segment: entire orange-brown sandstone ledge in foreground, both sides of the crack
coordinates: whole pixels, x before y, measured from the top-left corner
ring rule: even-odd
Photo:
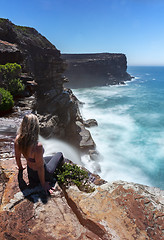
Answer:
[[[3,147],[7,153],[16,127],[11,119],[6,128],[3,123],[0,129],[9,129]],[[162,240],[164,191],[122,181],[105,183],[91,174],[93,193],[56,184],[47,198],[40,186],[29,188],[27,170],[18,174],[13,157],[2,154],[0,159],[0,239]]]

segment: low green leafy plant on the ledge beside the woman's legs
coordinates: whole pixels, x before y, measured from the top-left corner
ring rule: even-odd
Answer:
[[[95,189],[89,183],[88,172],[76,164],[64,163],[55,171],[55,177],[59,184],[68,187],[75,184],[80,190],[93,192]]]

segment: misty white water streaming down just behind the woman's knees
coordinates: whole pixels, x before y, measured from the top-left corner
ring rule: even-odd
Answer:
[[[78,165],[82,165],[80,154],[78,150],[72,145],[56,138],[45,139],[41,136],[39,136],[39,141],[43,144],[45,150],[44,156],[51,156],[56,152],[62,152],[65,158]]]

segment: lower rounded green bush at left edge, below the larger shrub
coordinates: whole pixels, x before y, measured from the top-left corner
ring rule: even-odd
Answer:
[[[14,106],[13,96],[11,93],[4,88],[0,88],[0,112],[7,112]]]

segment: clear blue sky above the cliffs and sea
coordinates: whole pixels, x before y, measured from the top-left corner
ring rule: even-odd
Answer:
[[[0,17],[36,28],[61,53],[124,53],[164,66],[164,0],[1,0]]]

